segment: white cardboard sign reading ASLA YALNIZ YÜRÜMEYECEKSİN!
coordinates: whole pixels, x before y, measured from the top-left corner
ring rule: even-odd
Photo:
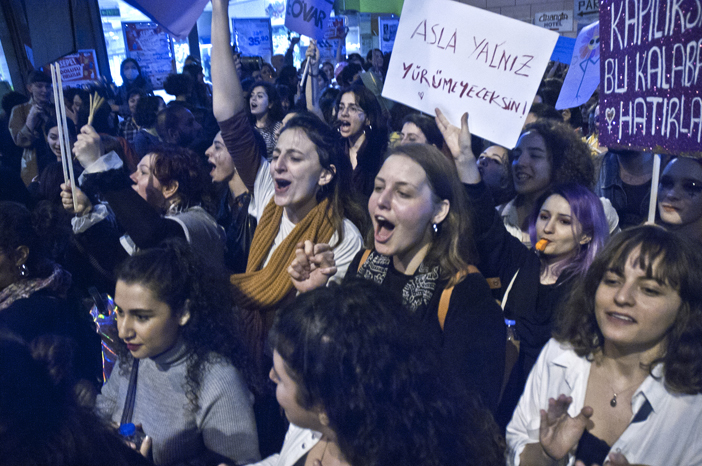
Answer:
[[[516,145],[558,34],[450,0],[405,0],[383,97]]]

